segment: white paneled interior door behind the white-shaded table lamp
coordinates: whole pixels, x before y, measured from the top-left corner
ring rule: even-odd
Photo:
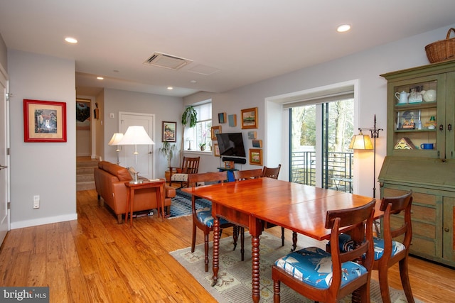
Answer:
[[[144,126],[152,141],[154,138],[154,114],[119,113],[119,132],[125,133],[129,126]],[[153,145],[137,145],[137,172],[142,177],[154,179],[154,147]],[[123,167],[135,167],[134,145],[122,145],[120,153],[120,165]]]

